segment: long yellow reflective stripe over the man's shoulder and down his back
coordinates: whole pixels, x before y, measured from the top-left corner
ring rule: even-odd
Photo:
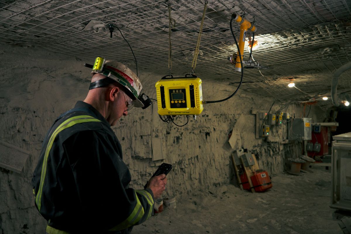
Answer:
[[[56,136],[64,129],[72,127],[73,125],[76,125],[77,123],[85,123],[85,122],[101,122],[98,119],[93,118],[90,115],[78,115],[78,116],[74,116],[72,118],[69,118],[67,120],[65,120],[64,122],[62,122],[56,129],[55,131],[52,133],[47,147],[46,147],[46,151],[45,151],[45,155],[44,155],[44,161],[43,161],[43,165],[41,168],[41,175],[40,175],[40,185],[39,185],[39,190],[38,190],[38,194],[37,197],[35,198],[35,203],[38,206],[38,210],[40,211],[41,208],[41,195],[42,195],[42,189],[44,187],[44,181],[45,181],[45,175],[46,175],[46,167],[47,167],[47,160],[49,157],[49,152],[52,148],[52,145],[54,143],[54,140],[56,138]]]

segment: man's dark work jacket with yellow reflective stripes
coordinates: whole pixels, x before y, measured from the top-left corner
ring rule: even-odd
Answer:
[[[44,139],[32,184],[48,225],[69,233],[127,233],[151,216],[151,189],[128,188],[131,174],[106,119],[78,101]]]

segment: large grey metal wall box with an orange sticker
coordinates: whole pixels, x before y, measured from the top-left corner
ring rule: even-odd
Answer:
[[[312,119],[296,118],[287,122],[288,139],[296,141],[306,141],[312,139]]]

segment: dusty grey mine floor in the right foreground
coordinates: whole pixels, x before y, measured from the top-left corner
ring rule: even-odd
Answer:
[[[313,173],[272,176],[264,193],[225,185],[210,191],[177,196],[177,207],[164,208],[132,234],[340,234],[330,205],[331,173],[324,167]]]

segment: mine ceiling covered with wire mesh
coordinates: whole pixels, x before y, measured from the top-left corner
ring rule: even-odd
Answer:
[[[104,56],[135,68],[130,48],[117,30],[110,38],[107,29],[87,27],[92,20],[113,23],[132,46],[139,70],[168,75],[168,6],[175,23],[172,74],[184,75],[191,71],[204,8],[201,1],[0,0],[0,40],[40,46],[91,63]],[[240,73],[227,60],[237,52],[229,22],[232,13],[242,14],[243,9],[250,22],[256,17],[255,40],[260,46],[253,58],[269,66],[245,69],[243,89],[278,100],[330,95],[332,72],[351,57],[350,0],[208,1],[195,70],[203,82],[224,82],[233,90],[238,85]],[[233,30],[239,36],[238,24]],[[244,60],[248,54],[245,49]],[[351,71],[340,76],[339,92],[351,91],[350,75]],[[287,88],[292,80],[298,89]]]

